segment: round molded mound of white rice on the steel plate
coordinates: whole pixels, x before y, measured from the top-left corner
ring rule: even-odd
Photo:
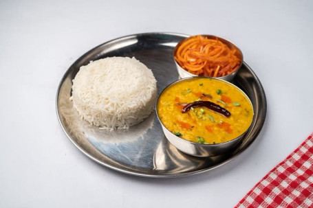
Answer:
[[[102,58],[80,67],[73,80],[72,101],[80,117],[102,128],[136,125],[154,110],[153,73],[136,58]]]

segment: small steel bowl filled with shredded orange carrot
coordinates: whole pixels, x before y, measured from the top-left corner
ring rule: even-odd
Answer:
[[[213,35],[196,35],[180,41],[174,60],[181,78],[205,76],[231,81],[244,56],[230,41]]]

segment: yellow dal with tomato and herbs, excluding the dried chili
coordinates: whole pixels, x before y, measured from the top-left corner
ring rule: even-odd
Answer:
[[[230,112],[226,117],[204,106],[186,104],[210,101]],[[169,86],[159,97],[158,116],[173,134],[196,143],[223,143],[242,135],[253,119],[250,100],[235,86],[212,78],[193,78]]]

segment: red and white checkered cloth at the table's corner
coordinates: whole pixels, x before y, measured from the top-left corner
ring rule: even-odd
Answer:
[[[313,133],[235,207],[313,207]]]

